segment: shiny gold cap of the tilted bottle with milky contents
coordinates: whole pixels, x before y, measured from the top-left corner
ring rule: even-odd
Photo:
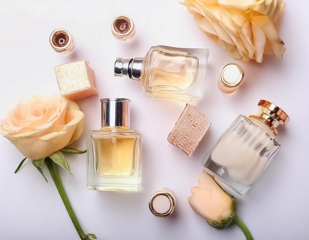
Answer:
[[[259,112],[257,115],[250,115],[249,117],[264,122],[270,127],[274,135],[278,134],[276,127],[279,125],[285,125],[290,121],[289,116],[281,108],[268,101],[260,100],[258,103],[258,109]]]

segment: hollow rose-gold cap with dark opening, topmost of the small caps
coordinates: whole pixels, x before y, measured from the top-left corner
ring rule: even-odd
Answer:
[[[125,15],[114,18],[112,22],[112,33],[119,40],[130,40],[135,35],[135,25],[132,19]]]

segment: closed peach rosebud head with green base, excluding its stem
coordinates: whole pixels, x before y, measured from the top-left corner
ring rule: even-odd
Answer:
[[[224,191],[206,171],[198,177],[198,187],[191,188],[188,198],[193,211],[206,219],[207,223],[218,229],[226,228],[237,211],[237,200]]]

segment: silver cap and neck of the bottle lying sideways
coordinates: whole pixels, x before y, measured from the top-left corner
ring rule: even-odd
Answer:
[[[143,60],[143,58],[117,58],[114,65],[115,76],[128,75],[133,80],[140,80]]]

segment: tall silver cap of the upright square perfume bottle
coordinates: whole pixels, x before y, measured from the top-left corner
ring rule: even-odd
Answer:
[[[102,128],[130,127],[129,99],[101,99]]]

